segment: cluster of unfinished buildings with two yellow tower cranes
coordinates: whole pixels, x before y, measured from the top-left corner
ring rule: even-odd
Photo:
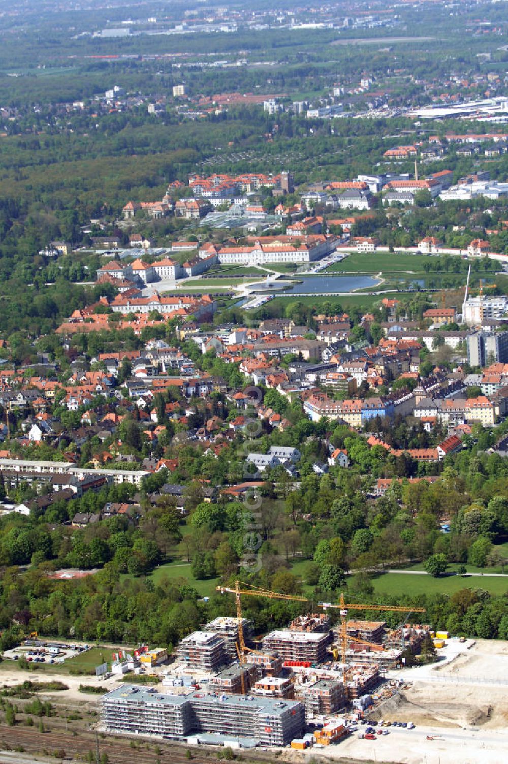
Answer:
[[[125,686],[105,695],[106,730],[198,736],[222,745],[235,736],[240,747],[328,746],[353,733],[390,697],[390,685],[380,688],[383,672],[402,666],[404,651],[418,653],[422,641],[431,639],[429,626],[403,623],[390,631],[383,620],[350,620],[349,610],[404,609],[346,604],[341,597],[338,604],[322,603],[322,612],[304,613],[286,629],[254,641],[242,597],[306,599],[241,581],[220,591],[235,596],[237,617],[215,618],[182,639],[163,673],[162,692]],[[333,628],[329,610],[338,616]]]

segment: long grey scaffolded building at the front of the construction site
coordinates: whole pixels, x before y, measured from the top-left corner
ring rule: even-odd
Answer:
[[[300,701],[207,693],[159,694],[122,685],[102,697],[102,720],[113,733],[183,737],[192,733],[234,736],[264,746],[285,746],[305,730]]]

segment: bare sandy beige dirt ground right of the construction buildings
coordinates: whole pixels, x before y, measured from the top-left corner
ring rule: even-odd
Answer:
[[[409,688],[370,716],[412,721],[414,730],[390,727],[387,736],[375,741],[352,735],[329,749],[312,749],[306,756],[403,764],[508,762],[508,642],[450,643],[441,666],[390,675],[403,676]]]

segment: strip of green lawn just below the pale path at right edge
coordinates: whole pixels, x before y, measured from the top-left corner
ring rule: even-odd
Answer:
[[[377,594],[409,596],[417,594],[454,594],[460,589],[485,589],[490,594],[505,594],[508,591],[508,578],[490,578],[489,576],[465,577],[453,575],[445,578],[432,578],[429,575],[410,573],[383,573],[372,579]]]

